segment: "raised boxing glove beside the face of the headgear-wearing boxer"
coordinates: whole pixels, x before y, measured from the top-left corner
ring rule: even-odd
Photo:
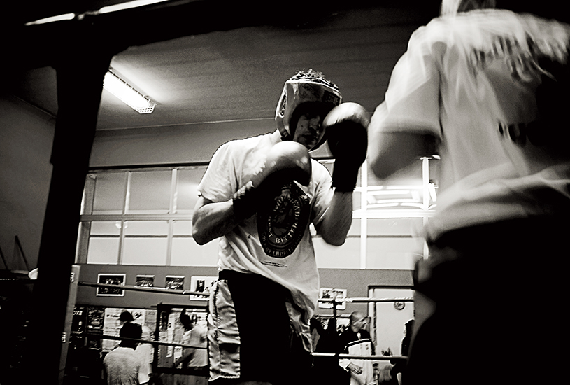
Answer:
[[[364,107],[352,102],[334,107],[322,121],[334,157],[332,186],[336,191],[349,193],[356,188],[358,170],[366,160],[369,123]]]

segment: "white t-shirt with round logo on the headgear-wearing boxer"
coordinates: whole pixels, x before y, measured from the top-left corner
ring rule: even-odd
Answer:
[[[198,186],[201,195],[213,202],[229,200],[250,181],[278,141],[278,136],[264,134],[222,144]],[[305,311],[305,323],[313,314],[319,289],[309,224],[322,221],[333,194],[326,167],[315,160],[311,167],[308,186],[293,182],[276,200],[276,205],[290,210],[273,211],[261,221],[259,213],[254,214],[220,238],[218,253],[220,270],[260,274],[289,289]]]

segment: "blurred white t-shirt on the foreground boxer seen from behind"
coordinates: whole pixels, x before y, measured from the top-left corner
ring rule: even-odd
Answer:
[[[539,118],[536,57],[567,62],[569,41],[569,25],[508,10],[436,18],[413,33],[371,125],[441,141],[441,195],[427,236],[554,214],[545,188],[568,201],[569,158],[550,159],[525,130]]]

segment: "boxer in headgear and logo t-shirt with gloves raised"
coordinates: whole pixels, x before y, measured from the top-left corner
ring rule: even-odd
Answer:
[[[192,220],[198,244],[220,239],[208,314],[211,381],[309,381],[319,290],[309,225],[328,244],[344,243],[368,123],[364,108],[341,103],[322,73],[299,71],[283,87],[277,130],[215,151]],[[332,176],[308,153],[325,139]]]

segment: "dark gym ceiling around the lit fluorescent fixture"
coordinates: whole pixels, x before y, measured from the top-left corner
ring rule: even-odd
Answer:
[[[77,27],[83,23],[98,27],[95,38],[101,45],[115,47],[113,69],[157,102],[154,112],[139,114],[104,90],[97,130],[272,118],[285,80],[309,68],[339,85],[345,101],[373,111],[410,34],[439,8],[439,1],[427,0],[352,0],[350,6],[242,1],[239,8],[231,6],[236,1],[166,1],[23,26],[123,2],[43,1],[36,6],[36,1],[20,0],[3,17],[3,28],[14,37],[8,48],[12,55],[3,63],[12,74],[9,92],[57,116],[54,64],[84,44],[78,37],[83,29]]]

